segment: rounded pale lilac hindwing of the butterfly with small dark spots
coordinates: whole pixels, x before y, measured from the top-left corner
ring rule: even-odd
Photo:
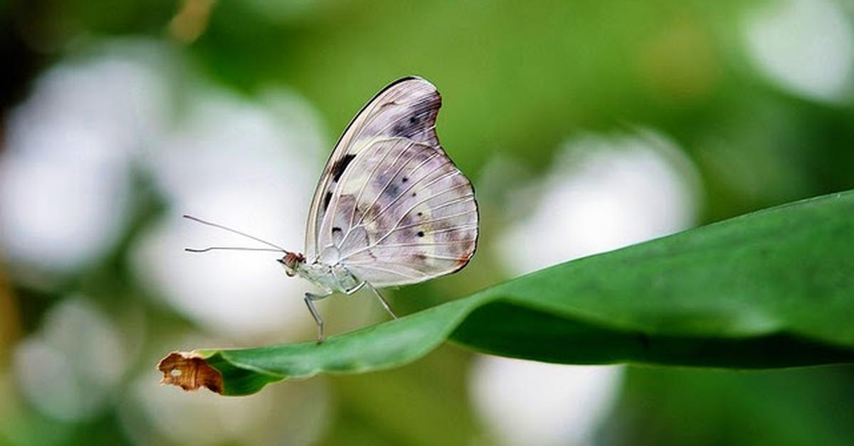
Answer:
[[[382,287],[465,265],[477,242],[471,183],[441,150],[406,138],[371,144],[342,177],[319,232],[330,261]]]

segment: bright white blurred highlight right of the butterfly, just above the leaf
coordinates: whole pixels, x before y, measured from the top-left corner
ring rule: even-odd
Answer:
[[[544,182],[517,200],[536,203],[502,235],[512,274],[668,235],[697,215],[699,176],[664,136],[578,136]]]

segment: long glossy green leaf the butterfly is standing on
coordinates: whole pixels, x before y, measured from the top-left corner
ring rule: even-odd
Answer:
[[[182,373],[192,383],[171,374],[193,357],[219,373],[213,390],[246,395],[281,379],[401,366],[447,339],[573,364],[854,362],[854,191],[555,265],[322,345],[196,350],[160,368],[165,382],[205,385],[193,370]]]

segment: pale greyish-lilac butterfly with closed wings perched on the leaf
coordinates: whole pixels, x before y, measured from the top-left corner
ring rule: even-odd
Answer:
[[[314,303],[334,293],[409,285],[459,271],[477,248],[479,215],[471,182],[436,136],[442,97],[424,78],[401,78],[362,107],[338,139],[308,211],[305,253],[290,252],[217,223],[184,216],[273,246],[278,263],[323,290],[305,303],[323,342]],[[210,247],[191,249],[206,252]],[[266,248],[248,248],[267,250]]]

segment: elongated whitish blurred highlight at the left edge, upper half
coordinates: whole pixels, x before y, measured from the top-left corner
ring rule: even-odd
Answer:
[[[63,272],[95,261],[126,222],[134,151],[160,133],[167,84],[149,45],[115,45],[36,81],[0,156],[0,246]]]

